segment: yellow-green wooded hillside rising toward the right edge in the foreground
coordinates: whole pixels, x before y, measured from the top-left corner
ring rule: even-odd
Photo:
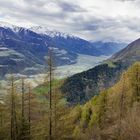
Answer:
[[[121,75],[117,84],[103,90],[69,114],[73,135],[80,140],[139,140],[140,62]]]

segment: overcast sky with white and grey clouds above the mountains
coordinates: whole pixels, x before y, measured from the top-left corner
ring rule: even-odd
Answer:
[[[0,21],[131,42],[140,38],[140,0],[0,0]]]

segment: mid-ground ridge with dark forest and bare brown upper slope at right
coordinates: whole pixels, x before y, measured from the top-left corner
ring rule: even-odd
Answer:
[[[136,61],[140,61],[140,39],[103,64],[69,77],[61,89],[71,104],[84,103],[101,90],[114,85],[121,73]]]

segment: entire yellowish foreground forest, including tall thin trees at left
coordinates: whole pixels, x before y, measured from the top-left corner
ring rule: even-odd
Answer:
[[[140,62],[113,87],[83,105],[70,106],[61,93],[65,80],[53,77],[48,59],[44,84],[32,89],[22,77],[9,78],[0,103],[1,140],[138,140],[140,136]]]

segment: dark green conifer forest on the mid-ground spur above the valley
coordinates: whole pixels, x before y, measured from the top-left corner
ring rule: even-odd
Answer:
[[[113,86],[128,67],[119,61],[98,65],[67,78],[61,90],[71,104],[86,103],[103,88]]]

